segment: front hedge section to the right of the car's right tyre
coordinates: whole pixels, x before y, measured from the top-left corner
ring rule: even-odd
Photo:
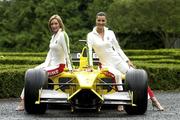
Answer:
[[[149,85],[156,90],[180,90],[180,66],[175,64],[137,65],[147,71]]]

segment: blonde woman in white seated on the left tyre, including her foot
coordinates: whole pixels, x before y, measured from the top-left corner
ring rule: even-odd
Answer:
[[[64,70],[65,67],[72,70],[69,37],[65,32],[64,24],[59,15],[50,17],[48,27],[52,32],[52,37],[49,44],[45,62],[35,67],[35,69],[44,69],[48,76],[57,75]],[[24,110],[24,89],[21,93],[21,102],[16,108],[17,111]]]

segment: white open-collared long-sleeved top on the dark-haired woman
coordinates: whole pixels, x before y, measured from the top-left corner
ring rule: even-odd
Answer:
[[[129,60],[120,48],[114,32],[106,27],[104,27],[104,38],[97,33],[94,27],[93,31],[87,35],[87,44],[90,66],[93,66],[92,48],[103,66],[116,66],[123,60]]]

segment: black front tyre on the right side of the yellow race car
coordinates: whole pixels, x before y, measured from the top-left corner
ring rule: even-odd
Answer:
[[[125,90],[133,91],[133,103],[136,106],[126,105],[125,111],[130,115],[142,115],[147,111],[147,82],[146,71],[135,69],[126,74]]]

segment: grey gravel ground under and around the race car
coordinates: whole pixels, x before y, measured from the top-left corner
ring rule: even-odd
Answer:
[[[101,112],[79,111],[71,113],[69,108],[49,108],[43,115],[28,115],[15,111],[19,99],[0,99],[0,120],[180,120],[180,92],[155,92],[156,97],[165,107],[165,111],[153,109],[151,101],[144,115],[132,116],[126,112],[118,112],[116,108],[102,108]],[[67,106],[66,106],[67,107]]]

